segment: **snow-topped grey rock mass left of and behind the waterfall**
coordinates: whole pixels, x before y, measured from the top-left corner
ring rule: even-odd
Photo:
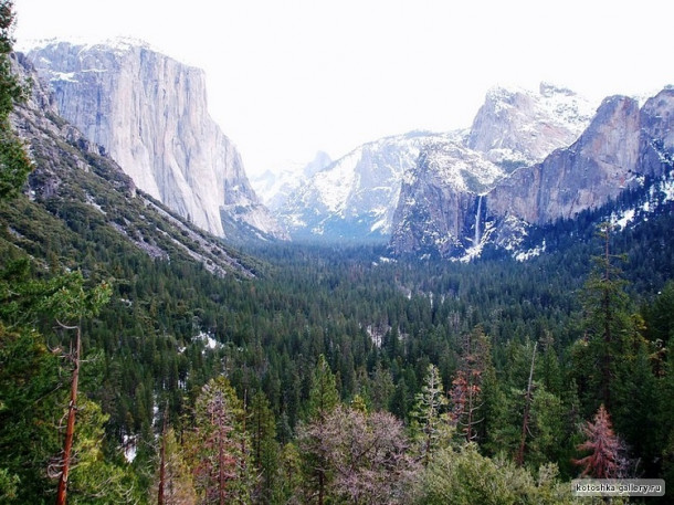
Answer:
[[[568,90],[495,87],[462,138],[429,143],[408,173],[393,217],[397,254],[461,255],[492,234],[485,196],[510,173],[578,138],[592,107]]]

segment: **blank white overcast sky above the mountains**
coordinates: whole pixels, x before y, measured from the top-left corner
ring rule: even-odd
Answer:
[[[674,83],[671,0],[14,0],[31,39],[143,39],[206,70],[249,175],[412,129],[467,127],[485,92],[590,98]]]

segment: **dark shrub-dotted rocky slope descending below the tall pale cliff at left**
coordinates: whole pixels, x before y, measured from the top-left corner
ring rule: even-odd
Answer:
[[[59,230],[56,223],[61,221],[63,251],[83,243],[95,244],[101,238],[106,243],[114,242],[118,234],[117,245],[127,242],[155,260],[199,262],[220,276],[254,276],[223,241],[137,191],[131,178],[103,146],[59,116],[52,90],[23,54],[13,55],[12,65],[28,91],[25,102],[17,104],[10,115],[14,131],[33,161],[34,169],[24,187],[30,200],[28,209],[31,215],[42,219],[51,214],[46,228],[40,218],[23,223],[25,236],[12,235],[19,239],[19,249],[28,246],[27,252],[32,254],[31,243],[49,242],[49,233]],[[84,223],[87,224],[81,227]],[[62,256],[64,266],[72,266],[72,259],[66,256]]]

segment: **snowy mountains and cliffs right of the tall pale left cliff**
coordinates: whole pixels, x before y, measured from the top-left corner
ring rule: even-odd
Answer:
[[[493,245],[528,257],[533,227],[646,185],[661,188],[652,204],[672,198],[673,94],[594,106],[550,84],[495,87],[470,128],[360,146],[295,189],[278,215],[296,240],[380,240],[393,256],[470,260]]]

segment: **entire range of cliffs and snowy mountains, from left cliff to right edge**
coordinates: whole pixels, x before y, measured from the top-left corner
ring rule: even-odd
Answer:
[[[463,130],[412,131],[266,172],[254,181],[260,199],[207,113],[201,71],[126,40],[50,42],[28,57],[57,113],[137,188],[230,240],[378,241],[392,255],[464,260],[494,245],[524,257],[531,227],[671,177],[672,88],[643,106],[623,96],[597,106],[541,84],[494,87]]]

